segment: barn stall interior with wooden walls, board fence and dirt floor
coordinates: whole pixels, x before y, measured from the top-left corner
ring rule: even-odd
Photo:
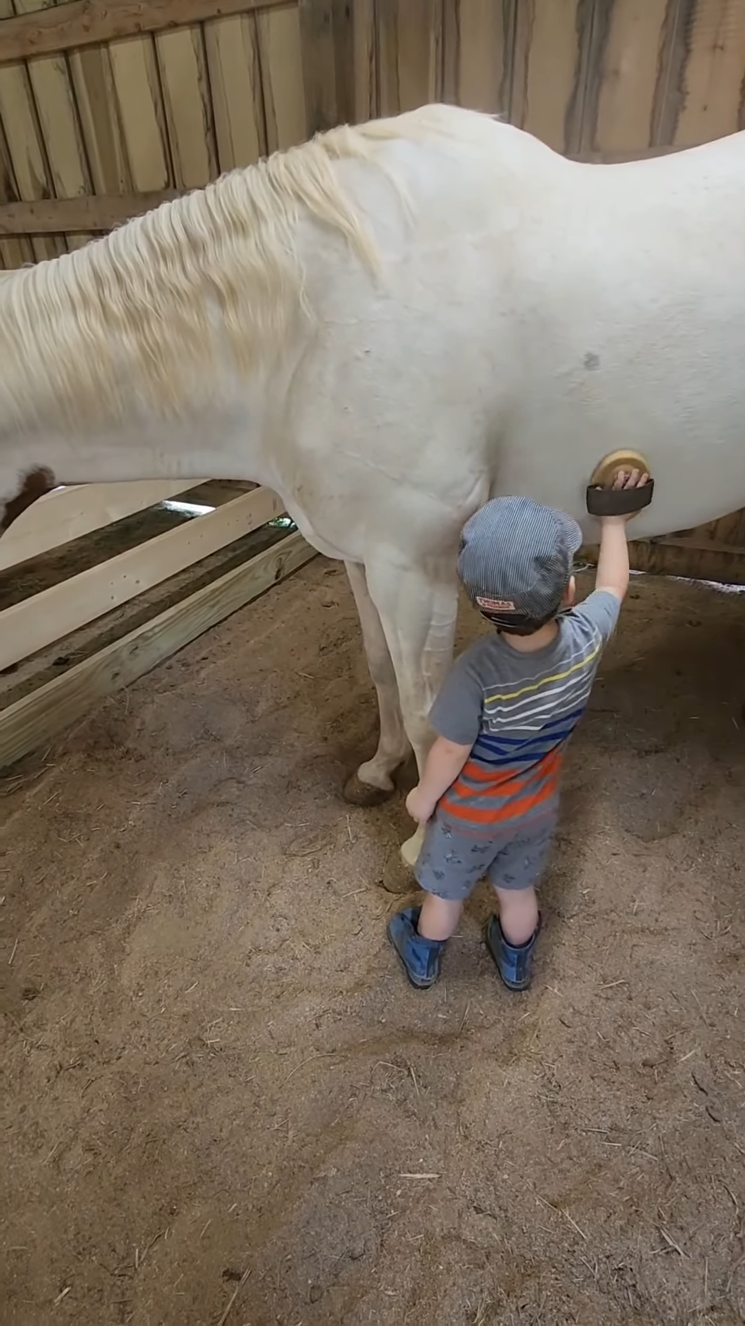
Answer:
[[[599,162],[742,122],[736,0],[0,4],[9,269],[432,98]],[[632,545],[656,575],[512,998],[481,891],[435,991],[394,964],[403,805],[339,796],[375,724],[354,607],[273,493],[68,488],[13,525],[4,1322],[742,1319],[742,526]]]

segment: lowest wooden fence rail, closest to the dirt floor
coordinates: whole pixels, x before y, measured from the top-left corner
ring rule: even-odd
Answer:
[[[293,533],[252,557],[243,566],[204,585],[164,613],[138,626],[121,640],[93,654],[30,695],[0,711],[0,768],[46,745],[84,717],[97,700],[131,686],[151,668],[196,639],[272,585],[315,557],[301,534]]]

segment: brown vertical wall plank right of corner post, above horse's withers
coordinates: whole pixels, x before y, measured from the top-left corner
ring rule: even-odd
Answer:
[[[441,0],[378,0],[380,115],[436,101],[443,89]]]

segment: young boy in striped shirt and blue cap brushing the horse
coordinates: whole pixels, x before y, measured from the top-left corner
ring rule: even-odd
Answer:
[[[640,488],[638,469],[615,488]],[[497,497],[467,522],[463,585],[494,626],[457,659],[430,712],[437,737],[407,810],[427,831],[416,879],[422,907],[388,922],[412,985],[427,989],[463,904],[485,875],[498,915],[487,948],[510,991],[530,984],[541,928],[536,884],[557,825],[558,780],[628,589],[627,516],[601,522],[595,590],[574,607],[579,525],[526,497]]]

